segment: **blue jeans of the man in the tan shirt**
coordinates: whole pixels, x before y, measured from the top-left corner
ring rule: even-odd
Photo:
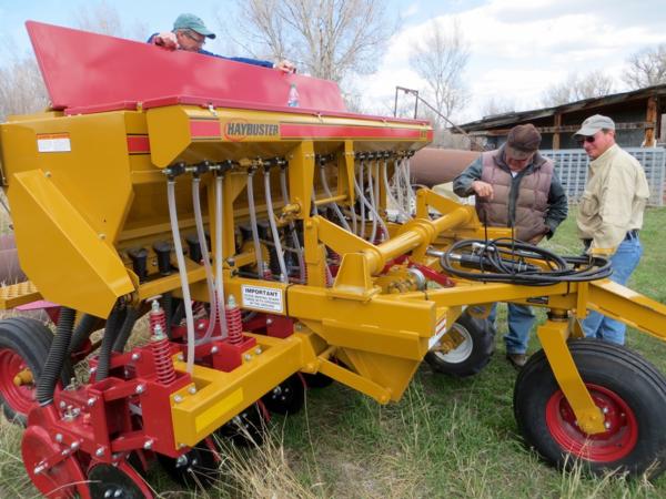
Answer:
[[[610,266],[613,267],[610,281],[623,286],[626,285],[629,276],[638,266],[640,255],[643,255],[643,246],[640,246],[638,235],[625,238],[610,257]],[[624,345],[625,329],[626,326],[623,323],[606,317],[598,312],[591,312],[583,320],[585,336],[605,339],[618,345]]]

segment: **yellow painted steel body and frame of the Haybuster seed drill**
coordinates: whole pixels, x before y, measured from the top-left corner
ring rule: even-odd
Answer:
[[[192,122],[213,123],[222,130],[226,122],[239,119],[248,123],[325,124],[332,130],[391,126],[417,131],[418,139],[249,136],[239,142],[222,133],[210,138],[192,135]],[[311,215],[313,191],[316,205],[337,202],[352,207],[356,201],[355,154],[374,151],[405,154],[418,149],[426,143],[430,131],[423,123],[231,109],[211,112],[193,105],[172,105],[147,112],[67,118],[43,113],[12,120],[1,128],[6,190],[12,205],[21,265],[32,283],[23,288],[3,288],[0,305],[4,306],[43,296],[105,317],[121,296],[139,302],[165,292],[178,293],[178,277],[160,277],[153,265],[150,278],[139,283],[125,252],[170,238],[163,169],[180,162],[234,161],[234,167],[224,173],[223,184],[225,293],[242,303],[243,286],[270,288],[284,304],[275,314],[295,319],[296,330],[285,339],[254,335],[256,348],[248,352],[242,366],[231,373],[195,366],[192,385],[172,394],[178,445],[196,444],[300,370],[331,376],[382,404],[397,400],[428,349],[435,345],[438,348],[456,345],[455,338],[445,335],[465,306],[529,303],[536,297],[539,298],[536,305],[548,307],[554,314],[538,328],[538,337],[555,378],[581,427],[595,434],[604,430],[603,417],[566,345],[569,336],[581,336],[575,317],[584,316],[588,308],[595,309],[662,339],[666,336],[666,306],[609,282],[535,288],[456,279],[453,288],[405,292],[400,286],[392,287],[392,279],[403,279],[404,272],[380,274],[393,258],[410,254],[412,261],[438,268],[437,259],[427,254],[428,248],[444,248],[460,238],[484,237],[486,231],[474,208],[432,191],[418,191],[414,220],[404,225],[390,224],[391,237],[381,244],[372,244],[322,216]],[[53,133],[68,136],[71,150],[40,153],[36,141]],[[150,152],[132,153],[128,145],[131,135],[150,139]],[[322,154],[334,156],[332,167],[337,171],[336,190],[331,198],[324,198],[315,175],[316,155]],[[281,223],[302,222],[307,266],[307,283],[303,285],[238,275],[240,267],[256,261],[253,247],[236,251],[234,234],[236,224],[249,216],[248,170],[260,166],[261,157],[275,156],[289,163],[290,204],[275,202],[266,206],[260,195],[255,207],[260,213],[273,210]],[[274,180],[275,175],[276,172]],[[201,185],[204,217],[212,228],[213,174],[204,174]],[[381,193],[384,198],[383,185]],[[176,183],[176,204],[181,231],[192,231],[188,181]],[[381,208],[384,207],[382,201]],[[433,212],[438,215],[433,216]],[[500,237],[508,232],[493,228],[488,234]],[[214,233],[211,240],[215,241]],[[335,282],[329,287],[326,248],[342,256]],[[154,261],[153,253],[150,261]],[[189,262],[186,274],[194,299],[206,301],[203,268]],[[567,310],[572,312],[571,318]],[[332,357],[342,364],[332,361]],[[179,370],[185,368],[180,360],[175,360],[175,366]]]

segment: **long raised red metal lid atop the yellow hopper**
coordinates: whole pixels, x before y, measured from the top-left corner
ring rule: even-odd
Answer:
[[[346,111],[332,81],[34,21],[26,26],[54,109],[100,112],[188,95],[284,111],[290,84],[296,83],[302,108]]]

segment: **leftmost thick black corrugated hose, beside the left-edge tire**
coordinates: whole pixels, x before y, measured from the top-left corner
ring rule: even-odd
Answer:
[[[72,339],[72,329],[77,312],[73,308],[62,307],[56,328],[56,337],[49,348],[49,355],[42,374],[37,381],[37,401],[40,406],[48,406],[53,401],[56,385],[60,379],[69,346]]]

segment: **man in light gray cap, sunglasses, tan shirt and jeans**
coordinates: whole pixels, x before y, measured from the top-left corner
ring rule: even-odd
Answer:
[[[588,254],[610,256],[610,281],[624,285],[643,254],[638,231],[649,197],[645,171],[615,143],[615,123],[608,116],[589,116],[574,138],[592,160],[578,204],[578,235]],[[625,343],[625,325],[598,312],[589,313],[583,329],[589,337]]]

